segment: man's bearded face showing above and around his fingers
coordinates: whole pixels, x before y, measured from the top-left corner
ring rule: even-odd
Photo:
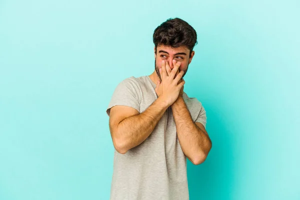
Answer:
[[[155,71],[161,81],[161,76],[159,69],[161,68],[161,61],[165,60],[168,63],[171,69],[173,69],[172,60],[175,59],[176,62],[180,61],[179,71],[183,70],[184,73],[182,77],[187,72],[188,64],[191,62],[191,59],[194,55],[194,51],[191,52],[189,57],[189,49],[186,46],[179,46],[177,48],[172,48],[171,46],[159,45],[157,46],[157,51],[155,53],[154,46],[154,57],[155,57]]]

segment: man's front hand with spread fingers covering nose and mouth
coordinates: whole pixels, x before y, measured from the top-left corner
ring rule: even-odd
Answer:
[[[180,81],[183,75],[183,71],[177,73],[180,66],[180,62],[177,62],[173,69],[167,75],[166,62],[162,60],[161,68],[159,69],[161,82],[158,80],[155,88],[155,92],[158,97],[161,97],[167,105],[171,105],[178,97],[181,87],[185,81]],[[177,74],[177,75],[176,75]],[[174,76],[176,77],[174,78]],[[180,83],[178,84],[178,82]]]

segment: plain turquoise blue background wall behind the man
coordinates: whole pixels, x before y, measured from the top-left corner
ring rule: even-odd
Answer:
[[[184,91],[212,149],[190,199],[300,199],[298,0],[1,0],[0,199],[108,199],[115,86],[154,70],[152,33],[198,35]]]

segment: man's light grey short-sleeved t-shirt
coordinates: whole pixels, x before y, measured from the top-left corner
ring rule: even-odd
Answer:
[[[106,113],[114,105],[127,105],[143,112],[157,99],[155,83],[148,75],[128,77],[115,88]],[[183,99],[194,122],[206,125],[201,102]],[[139,145],[121,154],[114,150],[110,200],[189,199],[184,155],[169,106],[150,135]]]

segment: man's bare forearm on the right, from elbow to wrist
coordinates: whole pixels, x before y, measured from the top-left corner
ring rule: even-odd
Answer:
[[[183,153],[193,164],[202,163],[211,148],[211,141],[204,126],[193,122],[182,97],[177,98],[171,109]]]

